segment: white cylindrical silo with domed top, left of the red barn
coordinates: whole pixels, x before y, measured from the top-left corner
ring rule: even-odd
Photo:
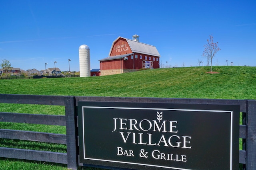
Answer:
[[[90,77],[90,49],[87,45],[79,47],[80,77]]]

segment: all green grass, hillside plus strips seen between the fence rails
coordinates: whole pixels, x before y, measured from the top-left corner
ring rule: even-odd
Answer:
[[[208,66],[160,68],[111,76],[0,80],[0,94],[58,96],[111,96],[153,98],[256,99],[256,67],[214,66],[219,74],[206,74]],[[64,115],[63,106],[0,104],[1,112]],[[65,134],[65,127],[0,122],[0,129]],[[0,147],[66,152],[65,145],[0,139]],[[0,158],[0,170],[66,169],[66,166]],[[96,170],[96,168],[89,168]]]

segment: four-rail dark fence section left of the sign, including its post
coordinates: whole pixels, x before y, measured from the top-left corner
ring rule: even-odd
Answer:
[[[0,103],[65,106],[65,116],[0,112],[0,121],[66,126],[66,135],[0,129],[0,137],[67,145],[67,153],[0,147],[0,157],[67,164],[77,169],[74,97],[0,94]]]

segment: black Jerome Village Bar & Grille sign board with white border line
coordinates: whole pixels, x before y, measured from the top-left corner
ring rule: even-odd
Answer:
[[[138,170],[234,170],[240,106],[78,102],[80,162]]]

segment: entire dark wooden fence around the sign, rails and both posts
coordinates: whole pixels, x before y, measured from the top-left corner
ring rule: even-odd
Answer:
[[[67,164],[69,169],[77,169],[78,166],[86,166],[80,163],[78,159],[78,132],[76,130],[76,107],[78,101],[240,105],[240,112],[242,112],[243,121],[243,125],[240,125],[240,138],[242,138],[243,149],[239,151],[239,163],[242,164],[244,170],[256,169],[256,100],[115,98],[0,94],[0,103],[65,106],[66,114],[65,116],[57,116],[24,113],[0,113],[0,121],[66,126],[66,135],[0,129],[0,138],[59,143],[66,144],[67,146],[67,153],[0,147],[0,157]]]

